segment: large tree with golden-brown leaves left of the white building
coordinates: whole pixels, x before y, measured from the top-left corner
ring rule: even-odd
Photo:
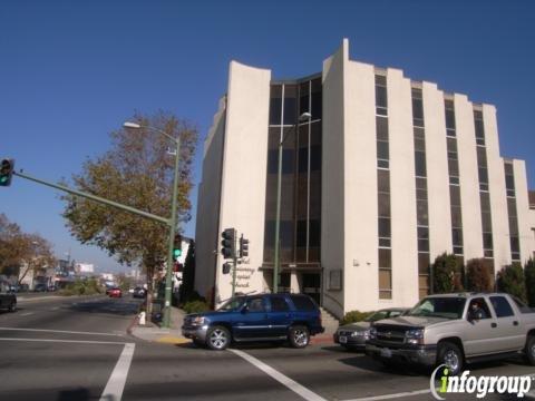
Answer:
[[[177,195],[178,225],[191,218],[188,199],[192,163],[197,129],[171,114],[136,114],[142,127],[154,127],[172,137],[181,137],[181,165]],[[82,190],[162,217],[171,215],[175,158],[168,154],[173,143],[152,129],[120,128],[110,134],[111,149],[87,159],[82,173],[72,175]],[[138,215],[65,195],[64,217],[70,233],[82,244],[97,245],[121,264],[138,264],[147,275],[147,312],[150,313],[153,276],[167,257],[168,227]]]

